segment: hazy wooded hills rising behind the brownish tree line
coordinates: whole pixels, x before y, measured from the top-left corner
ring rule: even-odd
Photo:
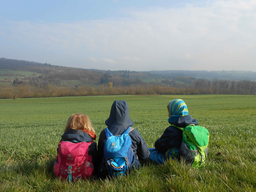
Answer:
[[[130,70],[99,70],[99,69],[82,69],[72,67],[62,67],[48,63],[38,63],[26,60],[14,60],[0,58],[0,70],[9,69],[16,71],[36,72],[38,78],[31,79],[29,82],[44,84],[54,84],[57,86],[90,85],[98,86],[100,84],[113,83],[113,86],[129,86],[132,84],[140,85],[161,85],[186,88],[194,85],[196,79],[206,81],[219,80],[236,80],[244,79],[256,80],[256,72],[252,71],[189,71],[189,70],[166,70],[166,71],[130,71]],[[0,73],[0,79],[4,81],[7,76],[5,72]],[[8,73],[7,73],[8,74]],[[18,73],[17,73],[18,74]],[[16,74],[16,75],[17,75]],[[28,80],[28,77],[17,76]],[[12,82],[12,77],[8,82]],[[21,82],[21,81],[20,81]]]

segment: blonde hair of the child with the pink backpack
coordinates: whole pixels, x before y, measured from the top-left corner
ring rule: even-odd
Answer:
[[[68,129],[78,129],[81,131],[86,130],[87,132],[92,131],[95,133],[89,117],[80,113],[73,114],[68,118],[68,122],[64,128],[64,132],[66,132]]]

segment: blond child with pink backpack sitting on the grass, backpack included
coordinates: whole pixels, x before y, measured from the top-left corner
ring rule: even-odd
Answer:
[[[55,175],[64,179],[68,177],[69,181],[71,178],[90,177],[98,156],[95,139],[95,131],[87,115],[70,116],[57,148]]]

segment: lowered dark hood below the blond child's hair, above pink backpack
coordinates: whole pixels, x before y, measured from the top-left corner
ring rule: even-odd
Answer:
[[[92,137],[84,131],[76,129],[68,129],[62,136],[63,141],[78,140],[79,142],[91,142]]]

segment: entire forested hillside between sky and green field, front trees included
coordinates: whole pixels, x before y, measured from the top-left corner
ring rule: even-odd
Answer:
[[[98,70],[0,58],[0,98],[118,94],[255,94],[251,71]]]

